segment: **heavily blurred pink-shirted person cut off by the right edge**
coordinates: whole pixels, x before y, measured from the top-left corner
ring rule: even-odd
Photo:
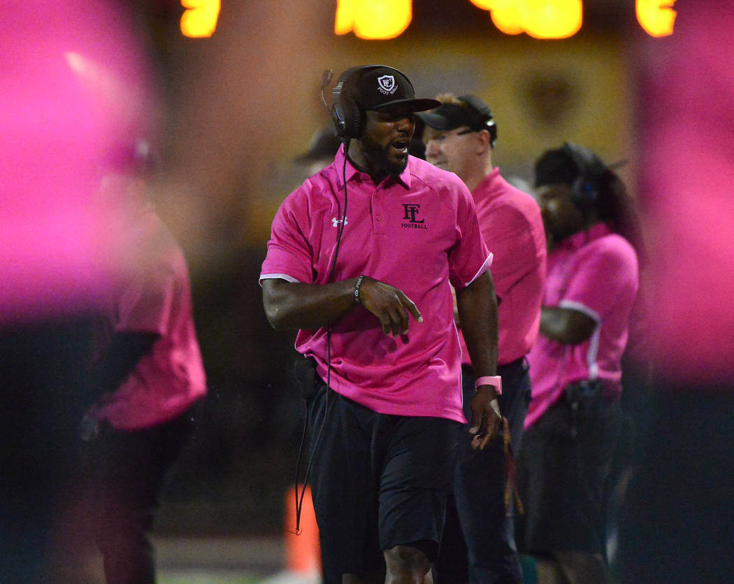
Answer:
[[[655,387],[619,522],[625,584],[734,574],[734,1],[675,7],[639,70]]]

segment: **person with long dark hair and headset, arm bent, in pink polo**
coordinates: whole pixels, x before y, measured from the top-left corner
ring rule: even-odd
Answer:
[[[534,183],[548,237],[532,400],[518,460],[524,549],[539,582],[606,582],[603,487],[621,423],[620,360],[639,287],[639,224],[595,153],[545,151]]]

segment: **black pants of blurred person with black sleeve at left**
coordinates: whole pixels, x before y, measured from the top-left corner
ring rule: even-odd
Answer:
[[[105,426],[91,446],[97,545],[108,584],[156,581],[150,530],[167,471],[192,433],[192,411],[143,430]]]

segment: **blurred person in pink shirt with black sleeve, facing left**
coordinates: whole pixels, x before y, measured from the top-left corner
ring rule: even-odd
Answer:
[[[183,252],[148,200],[148,144],[120,148],[99,192],[131,258],[95,329],[92,405],[82,421],[98,508],[95,538],[110,584],[156,580],[150,530],[170,470],[193,429],[206,380]]]

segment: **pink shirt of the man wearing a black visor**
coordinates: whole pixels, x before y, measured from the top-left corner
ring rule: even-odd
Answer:
[[[492,250],[492,277],[499,300],[500,365],[528,354],[538,336],[545,282],[545,229],[540,208],[495,168],[471,193],[479,227]],[[461,334],[461,331],[459,331]],[[464,336],[462,363],[470,364]]]

